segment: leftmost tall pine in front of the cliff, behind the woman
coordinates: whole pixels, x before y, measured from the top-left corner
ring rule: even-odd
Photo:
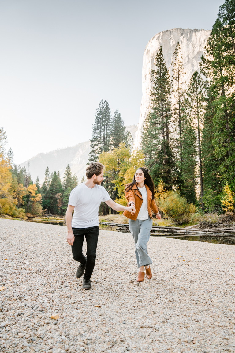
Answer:
[[[162,47],[155,56],[154,65],[156,69],[151,71],[151,110],[143,128],[142,149],[155,183],[163,180],[169,190],[175,182],[176,171],[169,131],[172,118],[172,83]]]

